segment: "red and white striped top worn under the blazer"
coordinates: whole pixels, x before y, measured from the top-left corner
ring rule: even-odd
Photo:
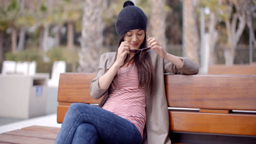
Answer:
[[[121,67],[110,85],[111,91],[102,108],[129,120],[143,135],[146,123],[146,87],[138,86],[135,64]]]

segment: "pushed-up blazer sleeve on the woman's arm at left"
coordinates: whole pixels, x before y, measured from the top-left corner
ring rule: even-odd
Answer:
[[[90,94],[94,99],[101,98],[102,95],[107,91],[107,89],[101,89],[98,86],[98,79],[105,73],[106,70],[106,59],[104,58],[104,54],[101,55],[100,64],[97,69],[96,77],[91,81]]]

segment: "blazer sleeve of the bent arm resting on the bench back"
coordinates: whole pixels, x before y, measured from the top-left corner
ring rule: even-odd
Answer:
[[[183,67],[181,68],[164,59],[164,73],[195,75],[199,72],[199,67],[195,62],[185,57],[179,58],[183,60]]]

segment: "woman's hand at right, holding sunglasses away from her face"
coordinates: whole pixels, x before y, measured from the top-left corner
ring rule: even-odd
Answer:
[[[154,37],[149,38],[148,42],[151,49],[158,53],[159,56],[164,58],[167,55],[166,51],[164,50],[164,47],[162,47],[162,44]]]

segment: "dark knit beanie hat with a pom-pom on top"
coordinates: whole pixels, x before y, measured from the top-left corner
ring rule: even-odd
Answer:
[[[126,1],[115,21],[115,30],[121,36],[132,29],[147,30],[148,17],[133,2]]]

